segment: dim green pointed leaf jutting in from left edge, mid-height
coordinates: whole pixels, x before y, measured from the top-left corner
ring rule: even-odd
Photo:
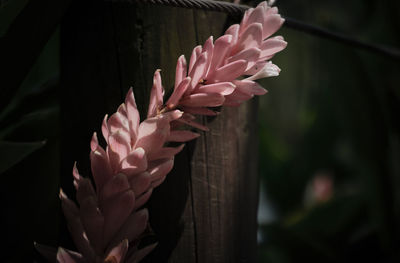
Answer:
[[[7,142],[0,141],[0,174],[7,171],[25,157],[40,149],[46,144],[41,142]]]

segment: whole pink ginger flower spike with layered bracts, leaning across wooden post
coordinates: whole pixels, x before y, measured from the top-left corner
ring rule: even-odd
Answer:
[[[266,2],[246,11],[241,24],[225,35],[194,48],[187,66],[178,59],[175,87],[164,103],[160,71],[154,74],[147,119],[140,122],[132,89],[117,112],[104,118],[104,150],[94,133],[91,167],[96,190],[89,179],[73,169],[79,207],[61,191],[62,208],[79,251],[59,248],[56,255],[38,245],[42,254],[58,262],[139,262],[155,246],[138,249],[148,226],[148,211],[141,208],[152,190],[170,172],[179,147],[200,136],[183,130],[184,124],[207,130],[194,115],[215,115],[209,107],[238,106],[266,93],[256,79],[277,76],[280,69],[269,60],[286,47],[282,37],[269,38],[282,25],[278,9]],[[241,76],[247,78],[238,79]]]

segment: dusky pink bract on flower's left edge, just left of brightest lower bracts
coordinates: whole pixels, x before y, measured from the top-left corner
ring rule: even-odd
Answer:
[[[99,147],[90,153],[90,164],[96,189],[99,191],[112,176],[111,166],[103,149]]]

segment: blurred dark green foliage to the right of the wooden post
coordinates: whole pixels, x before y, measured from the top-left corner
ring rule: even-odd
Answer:
[[[277,5],[283,15],[400,47],[396,1]],[[273,214],[260,222],[260,262],[400,262],[400,63],[279,34],[289,43],[273,59],[282,72],[263,81],[270,92],[260,99],[260,173]],[[310,202],[321,174],[332,193]]]

